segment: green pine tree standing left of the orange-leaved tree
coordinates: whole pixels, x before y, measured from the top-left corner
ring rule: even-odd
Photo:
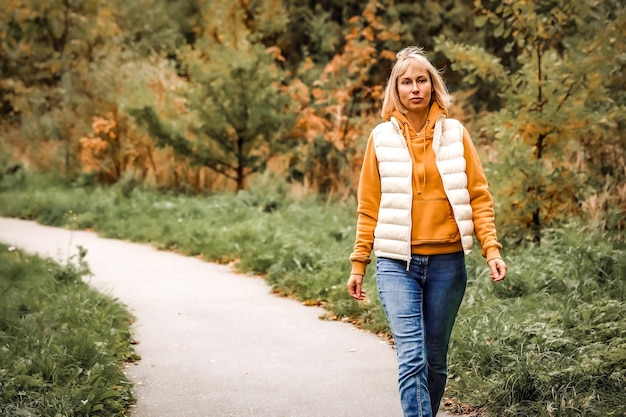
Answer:
[[[167,120],[175,115],[160,114],[154,106],[131,111],[157,146],[171,147],[192,165],[224,175],[239,190],[250,175],[263,171],[285,149],[284,136],[294,119],[289,97],[282,91],[285,74],[277,65],[280,51],[255,42],[258,34],[249,27],[265,27],[265,33],[273,30],[275,20],[266,14],[276,2],[266,6],[246,9],[221,4],[218,15],[229,22],[228,30],[207,16],[195,43],[179,51],[181,74],[188,81],[180,92],[189,112],[183,116],[185,126],[176,128]]]

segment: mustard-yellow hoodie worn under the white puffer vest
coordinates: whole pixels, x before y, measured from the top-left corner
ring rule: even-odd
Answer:
[[[400,112],[393,114],[402,126],[413,159],[413,254],[435,255],[462,250],[458,226],[446,197],[432,148],[435,120],[440,114],[445,112],[434,102],[421,132],[416,132]],[[493,199],[476,148],[466,129],[463,130],[463,147],[474,233],[482,255],[487,259],[498,258],[502,245],[498,243],[496,235]],[[370,136],[359,183],[356,243],[354,252],[350,255],[353,274],[365,274],[365,268],[371,262],[380,197],[378,161]]]

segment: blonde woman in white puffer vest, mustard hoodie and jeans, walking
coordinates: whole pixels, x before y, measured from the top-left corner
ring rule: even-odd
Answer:
[[[505,278],[506,264],[487,179],[469,133],[447,118],[452,97],[441,74],[421,48],[405,48],[397,58],[383,100],[385,122],[365,151],[348,292],[365,299],[363,277],[374,250],[404,415],[433,417],[474,234],[493,281]]]

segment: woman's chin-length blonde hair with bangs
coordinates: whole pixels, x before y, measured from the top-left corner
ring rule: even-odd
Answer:
[[[383,109],[381,116],[385,120],[389,120],[391,113],[398,110],[402,114],[408,111],[400,102],[398,95],[398,78],[404,74],[411,64],[417,64],[426,69],[430,75],[430,82],[433,86],[432,101],[436,101],[443,110],[447,110],[452,104],[452,95],[448,92],[448,88],[441,76],[441,71],[437,70],[433,64],[424,55],[424,49],[419,46],[408,46],[396,54],[398,59],[391,69],[385,94],[383,97]]]

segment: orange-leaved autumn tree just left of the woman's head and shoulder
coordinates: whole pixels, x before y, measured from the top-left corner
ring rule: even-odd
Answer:
[[[310,88],[300,79],[290,86],[299,115],[293,137],[302,139],[307,155],[305,179],[322,192],[354,192],[363,144],[380,120],[384,86],[371,70],[381,60],[395,59],[395,53],[380,53],[376,43],[399,36],[382,23],[378,7],[369,1],[360,16],[350,19],[344,47],[319,75],[311,74],[312,62],[305,60],[299,75],[316,77]]]

